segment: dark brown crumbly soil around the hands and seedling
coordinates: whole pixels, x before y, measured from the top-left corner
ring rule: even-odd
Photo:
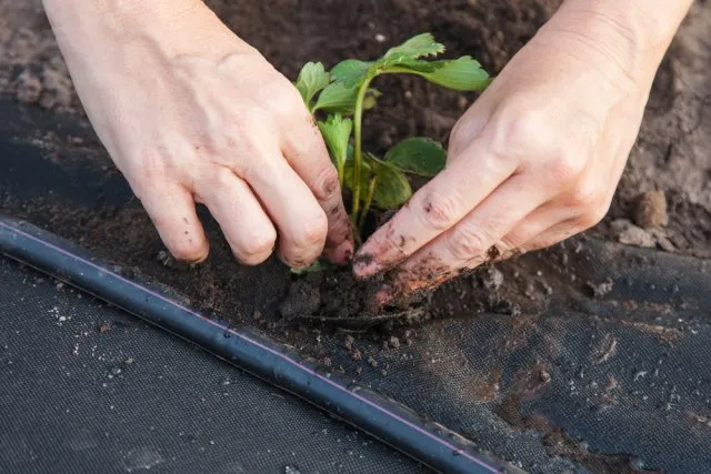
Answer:
[[[333,64],[342,58],[373,58],[388,44],[432,31],[448,54],[471,54],[497,73],[554,12],[560,0],[209,0],[216,12],[276,67],[296,78],[302,63]],[[351,376],[375,369],[387,375],[382,352],[418,343],[417,327],[429,320],[475,317],[482,312],[511,315],[521,332],[545,309],[553,294],[570,301],[601,299],[612,284],[595,281],[588,268],[591,236],[628,245],[711,258],[711,4],[697,1],[654,82],[647,114],[628,168],[605,220],[585,234],[552,249],[489,263],[447,283],[423,302],[375,312],[373,286],[347,271],[297,276],[272,259],[253,269],[240,266],[218,225],[201,209],[211,240],[209,259],[199,265],[174,262],[164,251],[147,214],[134,204],[66,206],[56,200],[20,200],[0,193],[0,210],[46,226],[124,269],[179,290],[194,306],[219,312],[234,324],[261,327],[323,365],[331,357],[320,344],[323,333],[342,334],[342,347],[358,363]],[[278,34],[273,32],[278,31]],[[382,151],[411,135],[442,142],[473,94],[443,91],[419,79],[379,79],[382,107],[368,114],[365,147]],[[40,0],[0,0],[0,94],[30,108],[66,114],[87,125]],[[81,150],[107,175],[116,174],[93,137],[29,133],[19,141],[57,150]],[[91,152],[89,152],[91,151]],[[62,153],[64,154],[64,153]],[[66,153],[72,155],[71,152]],[[60,163],[60,165],[63,165]],[[174,291],[174,290],[171,290]],[[99,331],[111,331],[107,325]],[[515,345],[515,339],[502,345]],[[615,351],[614,340],[600,359]],[[342,367],[341,371],[346,371]],[[525,396],[545,381],[545,367],[520,377]],[[472,391],[482,401],[499,396],[500,374]],[[533,383],[533,382],[535,383]],[[538,385],[537,385],[538,384]],[[494,387],[494,389],[492,389]],[[611,389],[612,390],[612,389]],[[522,417],[515,400],[500,400],[500,415],[521,428],[543,433],[552,453],[580,461],[594,472],[624,472],[629,460],[573,452],[564,433]],[[612,460],[612,461],[610,461]],[[607,463],[604,466],[600,463]],[[612,463],[612,464],[610,464]]]

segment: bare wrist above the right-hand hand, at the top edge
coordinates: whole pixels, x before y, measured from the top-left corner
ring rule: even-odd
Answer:
[[[567,50],[608,75],[651,83],[692,0],[565,0],[539,41]]]

